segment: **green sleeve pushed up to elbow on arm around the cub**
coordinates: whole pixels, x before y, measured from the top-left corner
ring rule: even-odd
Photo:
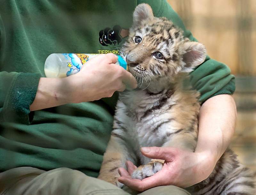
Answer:
[[[174,25],[184,31],[184,36],[192,41],[197,41],[192,33],[188,31],[178,14],[172,9],[166,0],[138,0],[138,4],[149,4],[156,17],[166,17]],[[190,73],[190,82],[193,89],[200,92],[200,102],[219,94],[233,94],[235,87],[235,76],[230,74],[230,69],[225,64],[206,57],[204,63],[199,65]]]

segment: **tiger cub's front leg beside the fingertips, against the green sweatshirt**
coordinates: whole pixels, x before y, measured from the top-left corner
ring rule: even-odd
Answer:
[[[133,160],[134,155],[127,148],[124,138],[115,133],[115,130],[112,132],[110,141],[108,142],[107,150],[103,156],[103,162],[100,168],[99,179],[107,181],[111,184],[116,185],[117,187],[123,187],[123,184],[117,181],[120,177],[118,173],[118,168],[126,168],[125,162],[127,160],[135,163]]]

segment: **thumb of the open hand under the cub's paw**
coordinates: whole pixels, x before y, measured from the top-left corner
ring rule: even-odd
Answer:
[[[142,147],[140,148],[140,151],[148,158],[162,159],[166,161],[171,161],[174,156],[174,151],[172,148]]]

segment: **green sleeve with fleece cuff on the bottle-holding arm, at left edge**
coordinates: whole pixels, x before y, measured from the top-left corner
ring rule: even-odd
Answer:
[[[29,106],[35,99],[40,74],[5,72],[2,56],[5,31],[0,15],[0,123],[30,124],[33,112]]]

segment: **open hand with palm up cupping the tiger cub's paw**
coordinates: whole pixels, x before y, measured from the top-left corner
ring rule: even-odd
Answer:
[[[118,181],[137,191],[145,191],[160,185],[189,187],[206,179],[216,164],[211,154],[194,153],[179,148],[147,147],[141,148],[141,153],[148,158],[162,159],[165,162],[159,172],[142,180],[131,178],[137,168],[132,162],[126,163],[127,170],[119,168],[121,177]]]

